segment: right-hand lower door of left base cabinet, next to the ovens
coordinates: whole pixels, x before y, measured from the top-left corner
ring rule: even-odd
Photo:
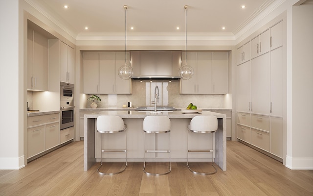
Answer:
[[[45,125],[45,150],[59,145],[59,123]]]

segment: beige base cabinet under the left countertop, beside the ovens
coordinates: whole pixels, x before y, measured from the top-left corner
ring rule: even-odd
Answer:
[[[59,114],[27,118],[27,158],[59,145]]]

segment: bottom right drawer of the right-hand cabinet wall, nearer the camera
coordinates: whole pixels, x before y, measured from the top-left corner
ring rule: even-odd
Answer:
[[[269,151],[269,133],[251,128],[251,144]]]

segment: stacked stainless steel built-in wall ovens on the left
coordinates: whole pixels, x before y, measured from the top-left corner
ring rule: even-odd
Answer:
[[[74,84],[60,83],[60,129],[74,126]]]

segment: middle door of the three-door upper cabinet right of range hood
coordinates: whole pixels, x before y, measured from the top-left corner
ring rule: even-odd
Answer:
[[[213,93],[212,52],[197,52],[197,93]]]

